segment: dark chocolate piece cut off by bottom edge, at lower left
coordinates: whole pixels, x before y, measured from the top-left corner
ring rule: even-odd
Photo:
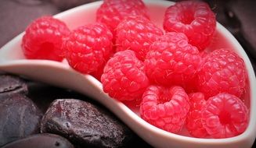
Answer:
[[[74,148],[74,146],[62,136],[53,134],[37,134],[29,136],[25,139],[17,140],[13,143],[9,143],[2,148],[24,148],[24,147],[36,147],[36,148]]]

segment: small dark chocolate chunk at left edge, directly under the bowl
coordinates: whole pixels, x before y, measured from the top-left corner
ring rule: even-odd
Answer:
[[[27,93],[27,84],[18,76],[0,74],[0,96],[3,93]]]

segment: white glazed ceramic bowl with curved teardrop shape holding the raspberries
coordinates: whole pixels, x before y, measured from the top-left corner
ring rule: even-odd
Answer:
[[[154,0],[146,0],[145,2],[149,8],[151,19],[154,23],[157,23],[157,26],[161,27],[165,9],[174,3]],[[55,17],[67,23],[70,29],[74,29],[83,24],[95,22],[96,9],[99,8],[101,3],[102,2],[93,2],[87,5],[81,5],[77,8],[59,13]],[[218,33],[232,45],[236,53],[243,58],[246,63],[250,82],[250,89],[247,92],[247,96],[250,97],[250,122],[248,128],[240,136],[228,139],[198,139],[189,136],[181,136],[165,132],[148,124],[124,104],[108,97],[102,90],[102,84],[92,76],[75,72],[64,62],[24,59],[20,48],[23,33],[0,49],[0,70],[84,93],[108,107],[110,111],[114,112],[118,118],[121,118],[121,120],[141,136],[142,139],[146,140],[147,143],[150,143],[150,145],[154,147],[249,148],[253,145],[256,137],[256,105],[254,105],[256,104],[256,92],[252,90],[256,87],[254,70],[245,51],[243,51],[243,48],[233,35],[219,23],[217,24],[217,30]]]

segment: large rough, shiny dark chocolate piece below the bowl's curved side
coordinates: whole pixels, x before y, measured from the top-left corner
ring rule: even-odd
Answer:
[[[74,99],[53,101],[41,120],[41,132],[94,147],[124,146],[132,136],[132,131],[103,107]]]

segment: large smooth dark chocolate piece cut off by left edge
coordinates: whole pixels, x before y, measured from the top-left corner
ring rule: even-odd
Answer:
[[[0,100],[0,146],[39,132],[41,112],[23,94]]]

